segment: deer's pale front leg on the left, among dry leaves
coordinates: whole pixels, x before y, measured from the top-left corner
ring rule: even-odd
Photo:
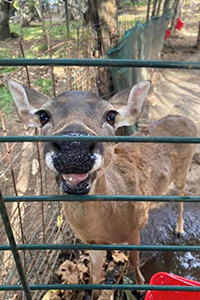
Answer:
[[[102,276],[102,268],[103,268],[106,251],[91,250],[88,252],[89,252],[90,263],[91,263],[90,283],[98,284]],[[93,290],[91,294],[91,300],[96,300],[98,299],[98,297],[99,297],[99,291]]]

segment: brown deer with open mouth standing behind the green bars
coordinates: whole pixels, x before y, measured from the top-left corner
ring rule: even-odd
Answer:
[[[115,136],[140,117],[150,81],[115,94],[105,101],[92,92],[66,91],[54,99],[17,81],[8,80],[19,117],[42,135]],[[141,128],[136,136],[196,137],[193,121],[168,115]],[[58,141],[44,143],[47,166],[55,172],[60,194],[163,195],[175,182],[184,195],[194,144]],[[64,202],[74,234],[86,244],[140,244],[151,202]],[[183,203],[179,202],[176,233],[183,234]],[[99,283],[105,251],[90,251],[91,283]],[[136,284],[144,284],[139,251],[130,251]],[[98,291],[92,292],[98,299]]]

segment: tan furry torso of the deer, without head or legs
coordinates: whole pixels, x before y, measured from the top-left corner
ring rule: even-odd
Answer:
[[[195,136],[192,121],[167,116],[136,135]],[[186,147],[185,147],[186,146]],[[93,195],[162,195],[175,181],[180,191],[190,165],[194,145],[119,143]],[[66,202],[64,210],[77,236],[85,243],[127,243],[146,224],[149,202]],[[88,222],[90,226],[88,226]],[[107,224],[105,226],[105,224]],[[132,241],[133,242],[133,241]]]

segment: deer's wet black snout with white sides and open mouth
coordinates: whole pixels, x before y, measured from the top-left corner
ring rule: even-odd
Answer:
[[[68,136],[90,136],[86,132],[65,132]],[[95,171],[101,166],[103,146],[93,141],[59,141],[45,145],[45,160],[61,178],[64,192],[86,194]],[[86,189],[87,187],[87,189]]]

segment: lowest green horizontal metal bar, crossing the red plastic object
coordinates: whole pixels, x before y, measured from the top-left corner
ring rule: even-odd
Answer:
[[[22,290],[21,285],[0,285],[0,291]],[[139,284],[34,284],[29,289],[36,290],[157,290],[200,292],[200,286],[139,285]]]

